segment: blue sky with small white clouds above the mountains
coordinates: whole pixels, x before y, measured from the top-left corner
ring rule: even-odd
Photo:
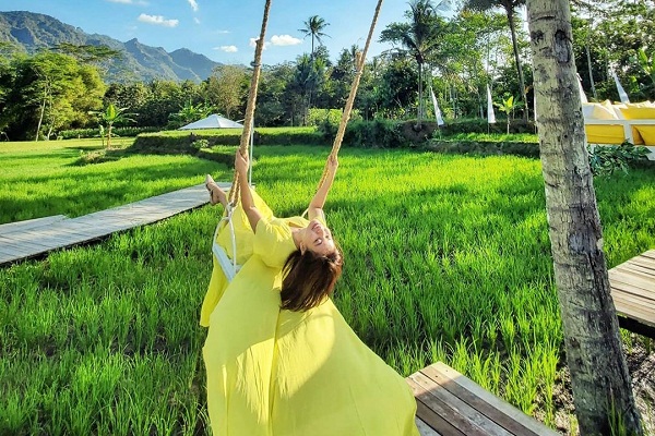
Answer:
[[[273,0],[263,63],[293,61],[311,51],[311,38],[298,32],[311,15],[330,25],[323,44],[335,60],[343,48],[364,47],[377,0]],[[138,38],[167,51],[188,48],[223,63],[250,63],[264,0],[0,0],[0,11],[51,15],[90,34],[121,41]],[[406,0],[386,0],[368,58],[390,48],[376,43],[392,22],[404,21]]]

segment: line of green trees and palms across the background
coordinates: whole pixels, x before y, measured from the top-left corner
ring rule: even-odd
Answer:
[[[486,117],[486,87],[497,101],[513,97],[514,116],[533,106],[532,59],[522,10],[525,0],[466,0],[458,10],[413,0],[404,16],[382,29],[389,49],[365,68],[354,109],[364,119],[433,117],[431,90],[446,119]],[[454,13],[451,13],[454,12]],[[446,16],[451,15],[451,16]],[[655,98],[655,4],[577,1],[573,47],[591,99],[618,99],[616,72],[634,99]],[[306,125],[311,108],[338,109],[348,96],[359,47],[331,59],[323,45],[326,23],[310,16],[298,29],[311,52],[264,65],[255,125]],[[61,45],[35,55],[0,46],[0,136],[49,138],[68,129],[94,128],[109,104],[129,109],[134,126],[175,129],[203,114],[243,118],[252,69],[221,65],[201,83],[152,81],[105,83],[111,50]]]

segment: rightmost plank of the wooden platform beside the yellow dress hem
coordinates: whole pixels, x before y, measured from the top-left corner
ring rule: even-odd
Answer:
[[[478,384],[463,376],[455,370],[451,368],[443,362],[437,362],[424,370],[421,370],[424,374],[430,374],[430,378],[432,378],[432,374],[440,374],[451,382],[449,385],[449,390],[452,388],[453,390],[457,390],[458,393],[466,397],[477,398],[481,401],[477,401],[479,407],[475,407],[481,413],[485,413],[487,416],[492,419],[499,425],[502,425],[508,431],[517,434],[517,435],[558,435],[557,432],[548,428],[546,425],[536,421],[535,419],[526,415],[519,409],[514,408],[509,402],[500,399],[493,393],[483,389]],[[452,390],[451,390],[452,391]],[[464,391],[468,391],[465,393]],[[462,398],[462,395],[455,393],[457,397]],[[463,399],[464,400],[464,399]],[[467,401],[468,402],[468,401]],[[487,405],[483,404],[487,403]],[[487,413],[489,414],[487,414]],[[501,413],[498,413],[501,412]],[[504,416],[502,416],[504,415]],[[513,423],[520,424],[520,428],[514,431],[513,428],[509,428],[510,426],[514,426]]]

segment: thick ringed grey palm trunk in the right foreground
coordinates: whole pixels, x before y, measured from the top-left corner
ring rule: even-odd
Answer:
[[[555,279],[581,435],[641,435],[603,253],[568,0],[527,0]],[[612,410],[617,412],[612,413]]]

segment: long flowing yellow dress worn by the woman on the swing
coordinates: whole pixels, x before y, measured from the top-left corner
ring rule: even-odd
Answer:
[[[409,387],[332,300],[306,312],[279,308],[281,270],[295,250],[290,226],[308,221],[275,218],[263,206],[264,218],[246,239],[251,249],[237,242],[250,257],[203,304],[211,314],[203,358],[213,434],[417,436]]]

